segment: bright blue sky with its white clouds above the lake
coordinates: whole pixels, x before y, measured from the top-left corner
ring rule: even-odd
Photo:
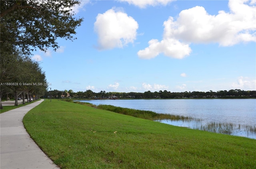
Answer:
[[[77,39],[32,58],[52,90],[256,90],[255,2],[82,1]]]

